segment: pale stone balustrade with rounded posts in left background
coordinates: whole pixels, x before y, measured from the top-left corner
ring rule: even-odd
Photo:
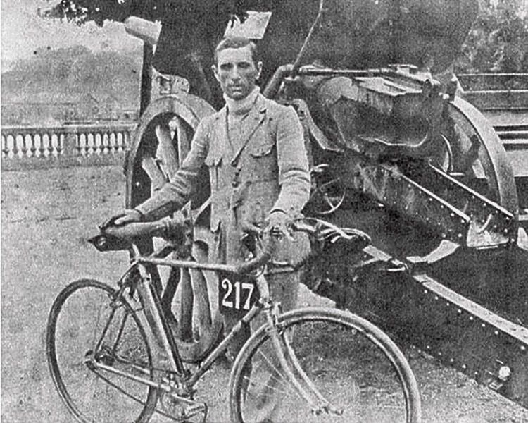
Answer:
[[[122,164],[134,124],[3,126],[2,170]]]

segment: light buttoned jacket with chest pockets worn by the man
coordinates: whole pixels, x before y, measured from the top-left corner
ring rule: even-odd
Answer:
[[[294,109],[258,94],[240,133],[237,140],[229,139],[226,107],[203,118],[174,178],[136,209],[147,220],[180,209],[200,188],[196,183],[205,163],[210,178],[211,231],[218,232],[223,226],[232,232],[243,220],[261,226],[274,210],[291,217],[300,214],[310,195],[310,173],[303,129]],[[238,233],[222,238],[229,244],[237,243],[237,237]],[[232,247],[227,246],[239,250]],[[236,255],[227,253],[227,261]]]

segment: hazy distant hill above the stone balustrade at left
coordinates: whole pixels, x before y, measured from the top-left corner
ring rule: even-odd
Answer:
[[[6,63],[7,64],[7,63]],[[62,109],[77,108],[62,113],[77,119],[88,119],[80,104],[92,104],[98,113],[113,109],[133,111],[139,109],[139,87],[142,67],[142,50],[130,53],[102,51],[92,53],[86,47],[66,49],[39,49],[31,59],[20,59],[8,63],[1,74],[2,121],[15,120],[25,123],[34,117],[27,110],[32,105],[42,107],[49,105],[50,114],[57,114],[57,107]],[[11,106],[10,106],[11,105]],[[73,106],[71,106],[73,105]],[[110,105],[110,106],[109,106]],[[16,114],[7,115],[6,111],[22,108]],[[51,110],[54,110],[51,112]],[[81,110],[81,112],[79,112]],[[66,110],[67,111],[67,110]],[[118,116],[115,110],[113,116]],[[45,115],[45,113],[44,113]],[[42,116],[38,120],[61,121],[61,116]],[[8,122],[13,123],[13,122]]]

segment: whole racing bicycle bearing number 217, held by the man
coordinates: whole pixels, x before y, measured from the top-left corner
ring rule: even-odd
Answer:
[[[208,407],[195,399],[197,382],[243,325],[260,314],[265,324],[246,341],[231,370],[232,422],[420,422],[413,372],[381,329],[330,307],[280,313],[265,277],[269,246],[277,238],[260,249],[256,246],[261,238],[249,238],[253,257],[238,265],[165,258],[170,251],[185,250],[182,241],[189,232],[184,227],[164,219],[101,232],[92,239],[98,250],[131,252],[118,287],[81,279],[54,301],[46,354],[58,393],[78,421],[149,422],[156,413],[177,422],[205,422]],[[320,243],[345,238],[358,251],[369,242],[360,231],[315,219],[297,221],[295,229]],[[178,242],[142,256],[132,242],[142,236]],[[213,350],[198,367],[179,355],[153,288],[153,266],[219,272],[220,307],[243,314],[231,333],[211,345]]]

